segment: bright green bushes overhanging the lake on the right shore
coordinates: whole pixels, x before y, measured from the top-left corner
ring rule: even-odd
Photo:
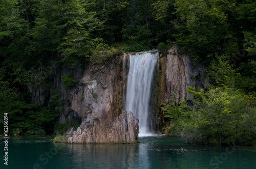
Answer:
[[[256,134],[255,97],[231,88],[212,88],[205,94],[192,91],[195,97],[193,105],[188,106],[182,101],[163,109],[166,117],[174,119],[172,128],[187,142],[253,144]]]

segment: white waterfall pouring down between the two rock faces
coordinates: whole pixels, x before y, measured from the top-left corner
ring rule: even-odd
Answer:
[[[152,113],[149,104],[157,58],[158,52],[138,52],[129,58],[125,109],[139,119],[139,136],[151,133],[148,114]]]

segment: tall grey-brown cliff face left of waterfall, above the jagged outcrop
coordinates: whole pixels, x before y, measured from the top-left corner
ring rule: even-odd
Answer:
[[[71,109],[82,122],[92,126],[108,126],[118,114],[120,68],[109,70],[106,66],[89,65],[80,84],[70,97]]]

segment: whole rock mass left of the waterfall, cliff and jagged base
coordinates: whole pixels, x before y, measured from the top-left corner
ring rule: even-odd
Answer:
[[[69,135],[70,143],[135,143],[138,119],[121,111],[122,82],[119,64],[115,69],[105,65],[88,65],[79,82],[69,90],[64,111],[81,118],[81,126]],[[63,90],[61,90],[63,91]],[[62,93],[67,96],[67,94]],[[65,116],[69,114],[66,113]]]

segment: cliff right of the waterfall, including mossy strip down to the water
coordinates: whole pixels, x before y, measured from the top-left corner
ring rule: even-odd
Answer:
[[[156,95],[155,117],[158,119],[159,130],[169,134],[169,130],[161,130],[171,126],[172,122],[164,118],[160,108],[161,103],[168,103],[173,94],[178,101],[190,98],[187,87],[196,88],[199,91],[205,88],[205,67],[203,64],[194,62],[187,54],[179,53],[179,49],[173,46],[171,49],[159,52],[158,94]]]

